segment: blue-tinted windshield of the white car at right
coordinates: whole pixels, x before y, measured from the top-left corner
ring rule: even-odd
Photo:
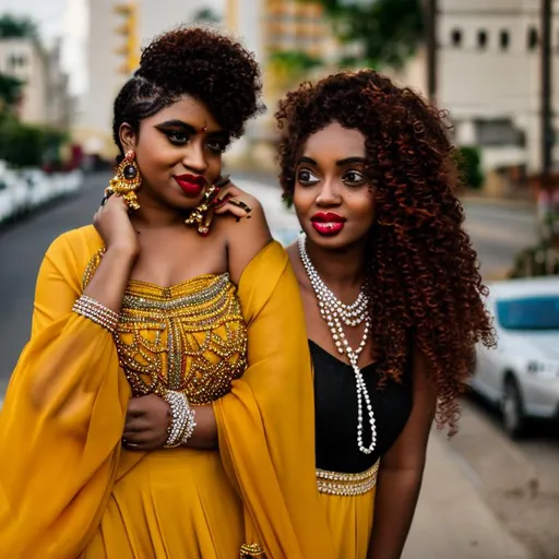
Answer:
[[[559,330],[559,295],[497,301],[497,320],[504,330]]]

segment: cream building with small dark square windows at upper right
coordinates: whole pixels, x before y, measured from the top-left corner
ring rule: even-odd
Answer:
[[[439,0],[439,8],[437,97],[450,112],[456,143],[479,145],[488,170],[521,166],[537,173],[540,3]],[[552,105],[559,108],[559,0],[554,14]],[[425,52],[399,78],[426,92]],[[557,118],[555,128],[559,129]]]

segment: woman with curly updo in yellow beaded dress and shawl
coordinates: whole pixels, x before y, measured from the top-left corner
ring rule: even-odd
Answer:
[[[118,94],[116,176],[45,255],[0,415],[2,557],[333,557],[297,281],[222,177],[260,93],[190,27]]]

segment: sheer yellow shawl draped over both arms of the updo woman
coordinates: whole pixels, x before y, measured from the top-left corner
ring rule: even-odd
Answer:
[[[103,515],[121,460],[130,388],[111,335],[71,311],[100,239],[59,237],[37,281],[32,336],[0,413],[0,550],[75,559]],[[314,479],[313,391],[302,307],[282,247],[247,266],[239,298],[249,367],[214,404],[224,464],[242,497],[247,540],[269,558],[328,559],[333,545]],[[127,463],[128,462],[128,463]]]

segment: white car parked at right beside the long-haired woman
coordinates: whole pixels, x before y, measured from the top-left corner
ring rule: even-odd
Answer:
[[[472,388],[501,406],[507,432],[559,419],[559,276],[489,284],[497,349],[477,348]]]

